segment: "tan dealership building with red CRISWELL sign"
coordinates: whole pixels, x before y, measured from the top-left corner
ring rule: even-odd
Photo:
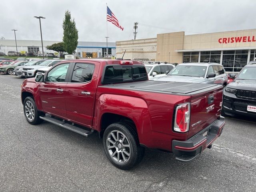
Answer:
[[[185,35],[157,34],[156,38],[116,42],[116,57],[135,60],[217,62],[226,71],[240,71],[255,60],[256,29]]]

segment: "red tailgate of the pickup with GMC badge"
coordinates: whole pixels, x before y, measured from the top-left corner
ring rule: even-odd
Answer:
[[[210,92],[192,96],[188,138],[206,128],[220,116],[222,89],[223,86],[218,86]]]

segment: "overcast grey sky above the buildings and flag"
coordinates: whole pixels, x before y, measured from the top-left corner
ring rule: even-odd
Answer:
[[[108,22],[110,42],[133,38],[138,22],[138,39],[156,34],[185,31],[199,34],[256,28],[256,0],[1,0],[0,37],[18,40],[62,40],[65,10],[70,10],[79,41],[105,42],[106,2],[118,18],[119,28]]]

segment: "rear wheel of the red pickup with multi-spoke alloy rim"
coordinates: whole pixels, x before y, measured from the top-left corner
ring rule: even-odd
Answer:
[[[144,148],[129,124],[118,122],[109,125],[103,135],[106,156],[117,168],[128,170],[138,164],[144,155]]]

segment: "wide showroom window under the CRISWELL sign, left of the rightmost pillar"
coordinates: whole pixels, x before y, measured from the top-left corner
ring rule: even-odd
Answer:
[[[223,51],[222,65],[226,71],[239,72],[246,64],[248,50]]]

